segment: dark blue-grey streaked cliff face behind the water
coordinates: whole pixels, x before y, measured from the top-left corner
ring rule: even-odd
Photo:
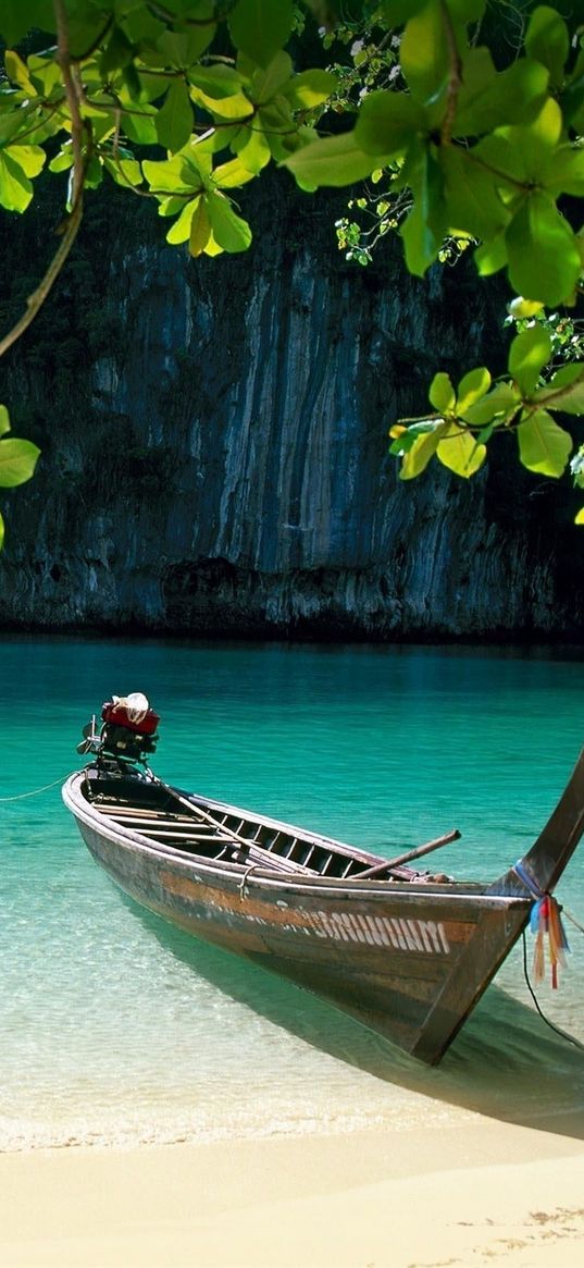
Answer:
[[[0,399],[43,456],[3,498],[0,625],[578,638],[565,487],[522,474],[505,441],[469,482],[431,469],[405,486],[386,455],[436,369],[504,368],[503,290],[476,288],[471,262],[408,278],[399,242],[346,264],[342,198],[286,179],[253,198],[250,255],[199,262],[138,200],[89,212],[4,359]],[[34,233],[0,222],[22,294],[43,268]]]

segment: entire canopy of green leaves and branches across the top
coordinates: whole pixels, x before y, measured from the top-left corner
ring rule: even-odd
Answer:
[[[300,18],[299,4],[3,0],[0,205],[24,212],[44,166],[65,174],[67,191],[61,246],[0,354],[33,320],[71,250],[85,191],[104,180],[149,199],[171,222],[167,241],[194,257],[250,246],[237,193],[272,161],[308,191],[371,181],[370,240],[350,218],[337,224],[356,260],[389,228],[419,276],[470,249],[481,276],[507,270],[512,316],[526,322],[509,378],[492,384],[480,368],[456,391],[435,378],[436,412],[393,436],[403,478],[433,455],[467,477],[502,432],[516,432],[531,470],[560,476],[571,437],[554,415],[584,412],[581,359],[543,373],[552,342],[541,312],[575,308],[581,287],[583,28],[530,6],[521,47],[499,66],[481,39],[486,0],[304,0]],[[348,49],[342,74],[338,63],[295,70],[304,11],[331,47]],[[576,455],[584,484],[583,472]]]

